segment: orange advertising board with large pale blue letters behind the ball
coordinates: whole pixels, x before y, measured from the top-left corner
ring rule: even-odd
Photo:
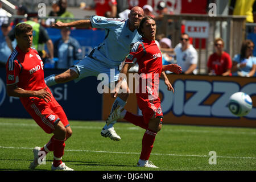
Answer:
[[[160,80],[159,95],[164,123],[210,126],[256,127],[256,78],[203,75],[167,75],[175,93]],[[133,92],[131,90],[131,92]],[[253,109],[245,117],[237,117],[228,109],[229,97],[245,92],[253,100]],[[104,94],[102,119],[108,118],[114,98]],[[131,93],[126,110],[141,114],[135,93]]]

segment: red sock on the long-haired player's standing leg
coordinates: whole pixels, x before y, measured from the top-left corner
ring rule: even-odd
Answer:
[[[156,133],[147,129],[142,138],[142,150],[139,159],[148,160],[155,142]]]

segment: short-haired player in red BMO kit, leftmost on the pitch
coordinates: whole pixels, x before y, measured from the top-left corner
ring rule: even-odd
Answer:
[[[19,97],[24,108],[36,123],[48,134],[53,136],[44,147],[35,147],[35,169],[45,159],[45,155],[53,151],[52,170],[73,170],[62,162],[65,140],[72,135],[71,127],[63,108],[52,96],[51,90],[44,82],[43,61],[32,45],[32,27],[20,23],[15,27],[17,46],[11,53],[6,64],[7,94]]]

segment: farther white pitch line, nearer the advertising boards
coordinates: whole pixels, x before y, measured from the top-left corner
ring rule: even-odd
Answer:
[[[31,126],[31,127],[38,127],[35,123],[2,123],[0,122],[0,125],[6,125],[6,126]],[[101,130],[102,127],[100,126],[73,126],[71,123],[72,129],[97,129]],[[115,129],[118,130],[141,130],[139,127],[115,127]],[[220,131],[220,130],[183,130],[183,129],[164,129],[163,131],[171,131],[171,132],[188,132],[188,133],[223,133],[223,134],[243,134],[243,135],[256,135],[256,132],[245,132],[245,131]]]

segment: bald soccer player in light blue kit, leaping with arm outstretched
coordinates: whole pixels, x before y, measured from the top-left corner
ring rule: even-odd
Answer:
[[[92,52],[77,64],[73,65],[67,71],[60,75],[50,75],[44,80],[47,86],[60,84],[75,80],[76,82],[88,76],[98,76],[100,73],[106,73],[109,77],[108,84],[115,82],[117,84],[119,77],[119,65],[125,60],[129,54],[133,44],[141,39],[141,35],[137,32],[139,23],[144,16],[144,11],[141,7],[135,6],[131,9],[129,19],[105,18],[104,16],[91,16],[89,20],[76,20],[75,22],[63,23],[57,22],[53,25],[56,28],[63,27],[84,27],[84,28],[104,28],[105,39],[97,47],[94,47]],[[110,69],[114,69],[114,74],[110,74]],[[128,86],[125,81],[122,82],[122,90]],[[117,91],[115,91],[117,93]],[[117,94],[115,94],[117,96]],[[112,106],[112,111],[117,106],[124,107],[129,93],[119,93]],[[112,112],[111,111],[111,112]],[[115,133],[115,122],[109,126],[105,125],[101,130],[103,137],[109,137],[113,140],[120,140],[121,137]]]

